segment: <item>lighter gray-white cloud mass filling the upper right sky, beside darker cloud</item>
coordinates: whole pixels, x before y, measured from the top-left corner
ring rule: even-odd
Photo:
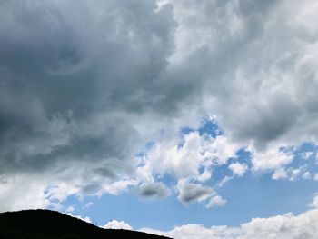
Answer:
[[[179,23],[172,61],[201,76],[203,105],[233,138],[264,149],[317,136],[318,31],[304,14],[314,1],[168,2]]]

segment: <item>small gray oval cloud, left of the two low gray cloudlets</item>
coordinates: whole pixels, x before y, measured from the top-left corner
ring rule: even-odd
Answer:
[[[143,184],[137,189],[137,194],[142,197],[165,197],[170,190],[163,183]]]

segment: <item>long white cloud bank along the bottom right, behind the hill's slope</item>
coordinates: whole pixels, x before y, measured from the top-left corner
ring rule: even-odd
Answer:
[[[315,200],[316,201],[316,200]],[[316,205],[316,204],[314,204]],[[240,227],[212,226],[200,224],[177,226],[169,232],[141,229],[144,232],[162,234],[176,239],[252,239],[252,238],[309,238],[317,237],[318,210],[313,208],[303,214],[283,214],[268,218],[253,218]]]

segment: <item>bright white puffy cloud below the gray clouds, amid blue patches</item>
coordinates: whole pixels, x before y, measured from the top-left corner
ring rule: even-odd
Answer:
[[[181,141],[181,142],[180,142]],[[159,140],[147,154],[140,173],[151,178],[153,174],[173,174],[176,179],[195,179],[206,181],[211,177],[213,165],[226,164],[236,157],[239,146],[230,142],[226,136],[212,138],[194,131],[183,139],[169,137]],[[204,169],[203,172],[200,169]]]

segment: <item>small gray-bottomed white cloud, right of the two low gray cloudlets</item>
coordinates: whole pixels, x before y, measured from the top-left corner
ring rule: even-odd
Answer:
[[[201,184],[181,182],[177,185],[177,188],[179,190],[178,199],[183,204],[202,202],[214,194],[214,190],[211,187]]]

